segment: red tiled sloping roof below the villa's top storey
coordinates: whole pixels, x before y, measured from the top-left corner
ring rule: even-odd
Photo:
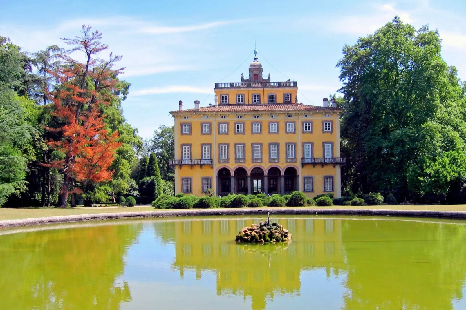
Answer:
[[[324,108],[305,104],[226,104],[218,107],[201,107],[199,110],[186,109],[171,111],[171,114],[183,112],[243,112],[243,111],[341,111],[340,108]]]

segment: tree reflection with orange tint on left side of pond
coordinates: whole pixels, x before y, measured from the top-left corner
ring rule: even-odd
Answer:
[[[105,225],[0,236],[0,292],[8,292],[2,309],[119,309],[131,297],[117,277],[123,275],[126,247],[141,228]]]

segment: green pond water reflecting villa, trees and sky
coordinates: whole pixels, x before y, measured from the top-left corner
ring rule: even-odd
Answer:
[[[263,220],[264,218],[262,218]],[[466,309],[466,222],[280,216],[0,230],[0,309]]]

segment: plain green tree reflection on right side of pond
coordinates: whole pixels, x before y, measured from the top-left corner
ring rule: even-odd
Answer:
[[[345,221],[345,309],[452,309],[462,297],[465,240],[464,225]]]

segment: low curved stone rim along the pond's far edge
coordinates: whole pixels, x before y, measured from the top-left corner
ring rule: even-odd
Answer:
[[[48,216],[19,220],[0,221],[0,229],[30,225],[53,224],[63,222],[83,222],[111,219],[169,217],[169,216],[222,216],[222,215],[346,215],[346,216],[400,216],[400,217],[426,217],[466,220],[465,211],[434,211],[434,210],[391,210],[391,209],[187,209],[187,210],[154,210],[141,212],[115,212],[82,214],[71,216]]]

